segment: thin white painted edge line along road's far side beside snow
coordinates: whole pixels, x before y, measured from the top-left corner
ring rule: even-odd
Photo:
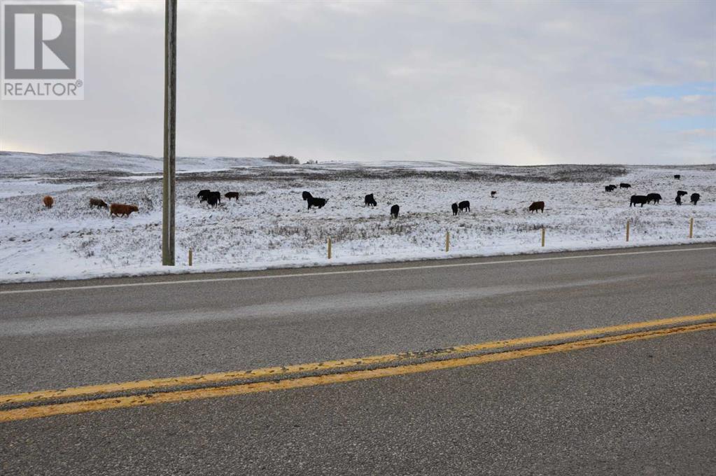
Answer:
[[[416,269],[433,269],[433,268],[458,268],[460,266],[488,266],[492,264],[505,263],[529,263],[533,261],[558,261],[572,260],[579,258],[604,258],[607,256],[634,256],[647,255],[653,253],[679,253],[684,251],[702,251],[716,250],[716,246],[704,246],[700,248],[685,248],[677,250],[651,250],[651,251],[626,251],[624,253],[599,253],[594,255],[578,255],[578,256],[551,256],[547,258],[522,258],[502,261],[483,261],[480,263],[448,263],[448,264],[427,264],[422,266],[402,266],[398,268],[374,268],[374,269],[352,269],[345,271],[318,271],[315,273],[290,273],[275,274],[269,276],[237,276],[236,278],[200,278],[200,279],[183,279],[177,281],[153,281],[150,283],[117,283],[117,284],[96,284],[92,286],[66,286],[59,288],[37,288],[37,289],[17,289],[14,291],[0,291],[0,294],[20,294],[20,293],[48,293],[55,291],[82,291],[84,289],[104,289],[104,288],[132,288],[135,286],[168,286],[171,284],[190,284],[190,283],[216,283],[218,281],[248,281],[251,279],[277,279],[277,278],[307,278],[311,276],[330,276],[334,274],[357,274],[357,273],[381,273],[385,271],[411,271]],[[137,276],[140,277],[140,276]]]

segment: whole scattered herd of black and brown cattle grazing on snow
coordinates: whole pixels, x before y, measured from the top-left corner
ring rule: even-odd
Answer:
[[[680,179],[681,175],[674,175],[675,179]],[[606,185],[604,187],[604,190],[606,192],[612,192],[616,190],[616,185]],[[619,188],[632,188],[632,185],[629,183],[620,183]],[[497,195],[497,192],[495,190],[490,192],[490,197],[495,198]],[[677,205],[681,205],[681,198],[687,195],[687,192],[684,190],[677,191],[676,198],[674,199],[677,203]],[[227,192],[223,194],[224,198],[227,200],[231,200],[232,198],[236,201],[238,201],[239,194],[238,192]],[[323,208],[326,203],[328,203],[328,198],[319,198],[314,197],[311,195],[310,192],[305,192],[301,194],[304,201],[308,204],[308,209],[311,210],[311,208]],[[208,205],[211,205],[212,207],[215,207],[219,203],[221,203],[221,192],[212,192],[211,190],[205,189],[200,190],[199,193],[196,194],[196,197],[199,198],[200,202],[206,202]],[[692,193],[691,194],[691,203],[696,205],[699,200],[701,199],[701,195],[698,193]],[[636,207],[637,205],[641,205],[642,207],[644,204],[648,203],[659,203],[662,200],[662,195],[659,195],[659,193],[649,193],[648,195],[632,195],[632,197],[629,200],[629,208],[632,206]],[[42,198],[42,203],[44,204],[45,208],[52,208],[52,205],[54,205],[54,199],[47,195],[44,198]],[[372,193],[369,193],[368,195],[365,195],[364,198],[364,206],[367,207],[376,207],[378,205],[377,201],[375,200],[375,197]],[[126,205],[124,203],[112,203],[110,205],[107,205],[107,203],[104,200],[100,200],[99,198],[90,198],[89,199],[89,208],[105,208],[105,210],[110,210],[110,216],[125,216],[128,217],[132,212],[138,212],[139,207],[137,205]],[[463,212],[469,212],[470,211],[470,201],[463,200],[461,202],[455,202],[453,205],[450,205],[450,208],[453,210],[453,215],[458,215],[458,213]],[[533,212],[539,212],[541,211],[544,213],[544,202],[538,201],[533,202],[528,210],[530,213]],[[390,216],[392,218],[398,218],[398,214],[400,213],[400,205],[392,205],[390,208]]]

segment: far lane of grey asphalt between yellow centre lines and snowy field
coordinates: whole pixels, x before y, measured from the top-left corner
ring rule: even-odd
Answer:
[[[202,279],[183,276],[155,286],[122,285],[167,278],[1,286],[0,393],[415,351],[716,311],[716,249],[690,248],[701,251],[556,253],[549,257],[610,256],[241,273],[211,276],[228,281],[180,283]],[[395,271],[325,274],[380,268]],[[256,279],[295,273],[304,276]],[[103,284],[120,287],[2,293]]]

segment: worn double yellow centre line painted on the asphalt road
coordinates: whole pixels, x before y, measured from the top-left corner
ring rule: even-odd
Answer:
[[[0,423],[415,374],[713,329],[716,329],[716,313],[580,329],[431,351],[6,394],[0,395]],[[236,383],[237,381],[241,383]],[[112,394],[117,396],[108,396]]]

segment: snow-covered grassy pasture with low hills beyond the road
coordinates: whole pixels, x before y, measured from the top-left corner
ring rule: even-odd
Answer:
[[[0,152],[0,282],[621,247],[627,219],[629,246],[716,240],[716,165],[276,165],[190,157],[178,160],[178,266],[168,270],[160,265],[160,165],[155,157],[114,152]],[[674,180],[674,173],[682,179]],[[604,185],[620,182],[632,189],[604,192]],[[241,198],[210,208],[196,198],[204,188]],[[303,190],[329,198],[328,204],[306,210]],[[490,190],[497,190],[496,198]],[[679,207],[677,190],[700,193],[702,201],[693,206],[684,197]],[[630,195],[652,192],[662,203],[629,208]],[[374,193],[377,208],[364,208],[367,193]],[[50,210],[42,207],[47,194],[55,200]],[[95,197],[140,211],[110,218],[107,210],[89,209]],[[450,204],[460,200],[470,200],[471,211],[455,217]],[[544,213],[528,213],[533,200],[546,202]],[[392,220],[395,203],[400,218]]]

